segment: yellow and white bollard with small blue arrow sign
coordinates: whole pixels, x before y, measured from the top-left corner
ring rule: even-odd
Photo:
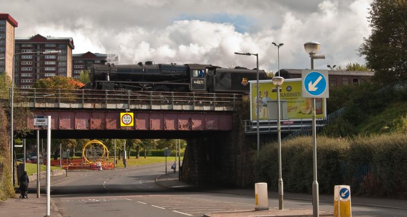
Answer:
[[[351,187],[349,185],[335,185],[334,217],[352,217]]]

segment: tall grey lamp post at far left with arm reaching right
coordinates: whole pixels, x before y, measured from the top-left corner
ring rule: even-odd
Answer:
[[[11,156],[11,183],[14,184],[14,167],[13,167],[13,101],[14,101],[14,59],[15,56],[18,54],[52,54],[52,53],[61,53],[61,50],[53,50],[53,51],[38,51],[38,52],[20,52],[13,54],[13,69],[11,74],[11,93],[10,93],[10,156]],[[38,158],[38,156],[37,156]]]

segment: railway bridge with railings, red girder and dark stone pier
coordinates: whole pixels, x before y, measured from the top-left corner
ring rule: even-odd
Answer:
[[[21,88],[14,105],[50,115],[52,138],[186,139],[184,180],[246,186],[253,181],[255,137],[245,130],[242,99],[239,94]],[[134,126],[121,127],[121,112],[133,112]],[[46,131],[34,126],[34,116],[28,127],[46,138]]]

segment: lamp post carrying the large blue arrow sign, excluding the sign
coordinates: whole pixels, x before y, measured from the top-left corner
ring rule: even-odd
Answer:
[[[305,51],[311,57],[311,70],[314,69],[314,59],[325,59],[324,54],[316,54],[321,48],[318,42],[307,42],[304,44]],[[316,177],[316,121],[315,121],[315,98],[312,99],[312,142],[313,142],[313,172],[314,180],[312,182],[312,210],[313,216],[319,216],[319,196],[318,196],[318,181]]]

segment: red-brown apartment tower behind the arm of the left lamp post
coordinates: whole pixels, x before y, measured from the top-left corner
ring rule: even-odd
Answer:
[[[72,38],[41,36],[39,34],[15,39],[16,85],[30,88],[41,78],[53,76],[72,77]],[[60,50],[61,53],[43,54],[35,52]],[[26,54],[25,54],[26,53]]]

